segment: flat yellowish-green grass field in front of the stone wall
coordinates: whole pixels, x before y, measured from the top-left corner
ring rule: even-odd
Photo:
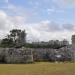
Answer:
[[[0,75],[75,75],[75,63],[0,64]]]

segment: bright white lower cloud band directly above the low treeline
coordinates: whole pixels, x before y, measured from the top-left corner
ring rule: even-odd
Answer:
[[[28,27],[27,30],[27,39],[30,41],[49,41],[49,40],[63,40],[67,39],[71,42],[71,36],[74,32],[71,31],[58,31],[58,32],[50,32],[50,31],[41,31],[36,29],[35,27]]]

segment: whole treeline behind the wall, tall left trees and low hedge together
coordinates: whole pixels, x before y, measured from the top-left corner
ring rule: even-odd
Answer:
[[[53,48],[59,49],[68,45],[69,42],[64,39],[62,41],[59,40],[50,40],[48,42],[26,42],[26,33],[25,30],[13,29],[10,33],[1,40],[0,47],[27,47],[27,48]]]

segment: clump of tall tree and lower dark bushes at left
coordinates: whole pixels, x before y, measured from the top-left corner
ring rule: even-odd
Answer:
[[[22,47],[26,43],[26,33],[25,30],[13,29],[6,38],[2,39],[1,46],[4,47]]]

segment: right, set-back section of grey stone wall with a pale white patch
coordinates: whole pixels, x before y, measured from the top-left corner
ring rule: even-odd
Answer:
[[[74,52],[71,49],[63,47],[61,49],[35,49],[33,50],[33,59],[35,61],[72,61]]]

